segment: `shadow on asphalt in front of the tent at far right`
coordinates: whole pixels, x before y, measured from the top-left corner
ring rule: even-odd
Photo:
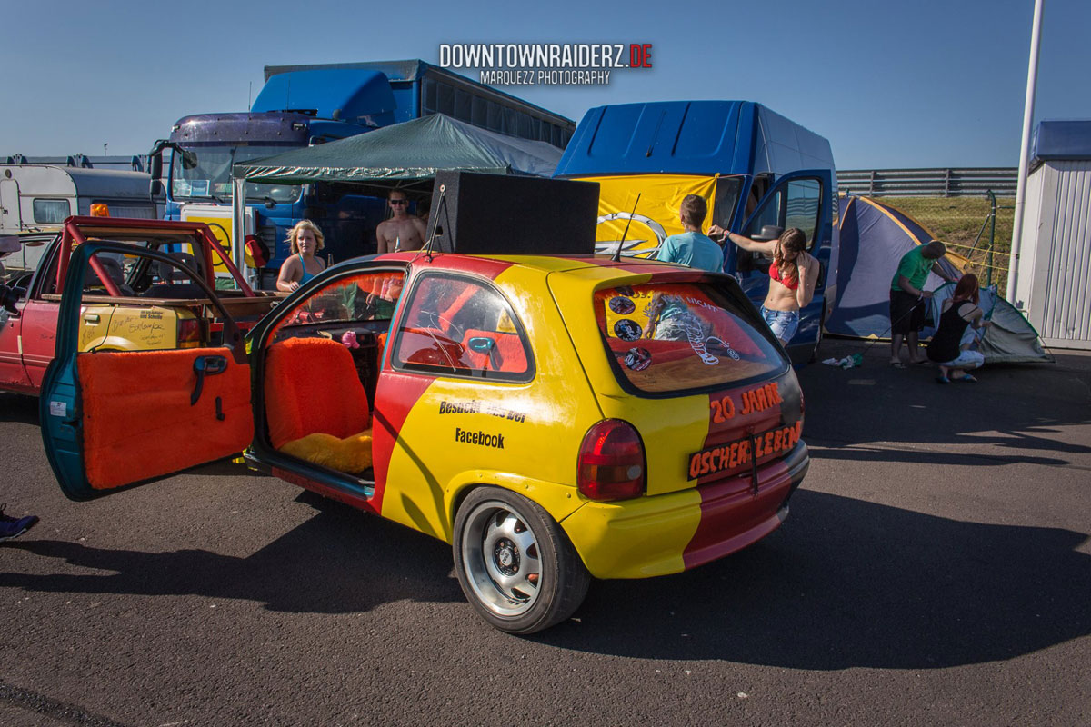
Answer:
[[[934,366],[891,368],[886,344],[831,341],[823,349],[824,356],[853,352],[865,353],[863,366],[846,371],[812,364],[798,372],[806,398],[803,438],[816,458],[967,463],[964,456],[930,453],[932,444],[973,446],[997,464],[1064,465],[1071,463],[1066,455],[1091,455],[1091,446],[1056,436],[1062,427],[1091,423],[1086,356],[986,366],[976,373],[976,384],[939,386]],[[858,447],[876,441],[907,449]],[[1028,450],[1040,456],[1027,457]]]

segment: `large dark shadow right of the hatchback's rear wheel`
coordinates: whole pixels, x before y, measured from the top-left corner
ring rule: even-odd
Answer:
[[[1091,632],[1079,533],[987,525],[800,490],[806,517],[693,571],[591,585],[535,640],[582,652],[783,668],[942,668]]]

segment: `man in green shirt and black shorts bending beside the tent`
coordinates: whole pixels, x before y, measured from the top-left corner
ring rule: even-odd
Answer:
[[[935,272],[948,282],[958,282],[947,275],[939,265],[939,258],[947,254],[944,243],[933,240],[926,245],[913,247],[898,262],[898,270],[890,279],[890,365],[901,368],[901,341],[909,349],[909,363],[927,361],[916,348],[918,338],[924,328],[924,301],[932,298],[931,290],[924,290],[928,272]]]

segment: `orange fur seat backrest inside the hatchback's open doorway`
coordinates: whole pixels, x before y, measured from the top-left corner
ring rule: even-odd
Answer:
[[[277,449],[311,434],[345,439],[371,426],[352,354],[328,338],[290,338],[265,358],[265,416]]]

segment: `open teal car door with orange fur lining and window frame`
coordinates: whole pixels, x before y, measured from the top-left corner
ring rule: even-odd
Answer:
[[[181,270],[218,308],[224,344],[81,352],[81,327],[91,316],[84,315],[80,291],[85,278],[97,275],[105,280],[106,258],[115,263],[121,258],[127,267],[151,258],[151,264]],[[85,500],[106,495],[228,457],[250,444],[254,422],[242,337],[200,275],[158,252],[85,242],[72,253],[64,290],[56,358],[46,371],[39,407],[46,453],[68,497]],[[141,320],[131,325],[164,326],[155,316],[148,305]]]

